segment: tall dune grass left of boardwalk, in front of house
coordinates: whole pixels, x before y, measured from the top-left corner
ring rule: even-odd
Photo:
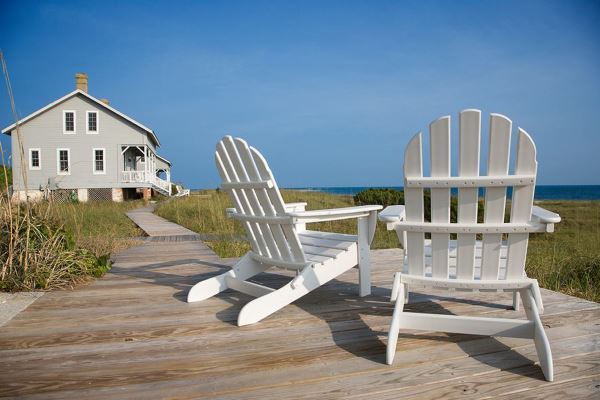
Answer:
[[[71,288],[110,269],[109,256],[141,231],[139,202],[21,203],[0,198],[0,290]]]

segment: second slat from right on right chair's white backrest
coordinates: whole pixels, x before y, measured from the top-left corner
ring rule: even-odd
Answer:
[[[510,157],[512,121],[503,115],[491,114],[488,152],[488,175],[507,175]],[[504,222],[506,188],[485,189],[484,222]],[[483,235],[481,279],[497,279],[500,267],[502,234]]]

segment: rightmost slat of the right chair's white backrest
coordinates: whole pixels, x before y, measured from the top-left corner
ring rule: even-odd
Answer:
[[[523,129],[519,128],[517,142],[517,161],[515,174],[537,174],[535,144]],[[510,209],[510,222],[527,222],[531,218],[535,185],[515,187],[513,189]],[[521,278],[525,269],[527,243],[526,233],[511,233],[508,235],[508,255],[506,263],[506,278]]]

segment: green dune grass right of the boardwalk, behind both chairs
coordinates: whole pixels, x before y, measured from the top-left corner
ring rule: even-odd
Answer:
[[[159,204],[156,213],[195,232],[214,235],[207,244],[221,257],[240,257],[250,246],[242,226],[225,216],[231,207],[223,192],[172,199]],[[351,196],[284,190],[286,202],[306,201],[307,209],[354,205]],[[600,201],[546,201],[543,207],[558,212],[562,222],[553,234],[531,235],[527,274],[547,289],[600,301]],[[309,229],[356,233],[355,220],[310,224]],[[378,224],[373,249],[398,246],[394,232]]]

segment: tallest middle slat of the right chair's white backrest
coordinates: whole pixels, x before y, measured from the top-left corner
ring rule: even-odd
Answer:
[[[479,176],[479,146],[481,141],[481,111],[465,110],[459,119],[459,176]],[[458,189],[457,222],[477,222],[478,188]],[[475,265],[475,234],[457,235],[456,277],[473,279]]]

